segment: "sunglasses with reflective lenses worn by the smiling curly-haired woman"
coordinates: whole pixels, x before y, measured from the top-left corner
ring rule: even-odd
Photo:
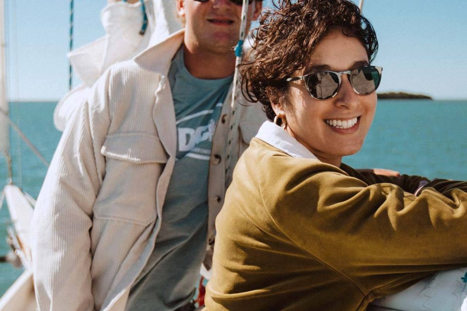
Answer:
[[[331,71],[323,70],[305,74],[301,77],[288,78],[286,81],[304,80],[311,97],[319,101],[333,98],[339,92],[342,75],[349,76],[349,82],[355,93],[369,95],[376,91],[381,82],[382,67],[362,66],[353,70]]]

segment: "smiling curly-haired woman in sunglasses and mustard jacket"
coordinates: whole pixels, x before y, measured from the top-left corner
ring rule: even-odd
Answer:
[[[266,122],[216,220],[213,310],[365,310],[436,271],[467,265],[467,182],[359,173],[382,69],[347,0],[281,1],[243,66]]]

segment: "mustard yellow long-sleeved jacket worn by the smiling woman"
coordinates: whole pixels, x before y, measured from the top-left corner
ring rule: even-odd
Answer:
[[[415,196],[422,177],[363,175],[284,149],[253,138],[234,170],[209,311],[365,310],[467,265],[467,182],[434,180]]]

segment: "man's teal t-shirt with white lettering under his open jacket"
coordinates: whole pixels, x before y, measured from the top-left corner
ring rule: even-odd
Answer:
[[[126,305],[130,311],[172,311],[193,297],[207,243],[212,138],[233,77],[192,76],[182,45],[168,80],[177,120],[176,162],[155,249],[130,291]]]

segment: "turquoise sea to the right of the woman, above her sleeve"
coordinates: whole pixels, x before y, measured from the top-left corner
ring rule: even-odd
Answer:
[[[467,101],[380,100],[362,149],[343,162],[466,180],[466,117]]]

